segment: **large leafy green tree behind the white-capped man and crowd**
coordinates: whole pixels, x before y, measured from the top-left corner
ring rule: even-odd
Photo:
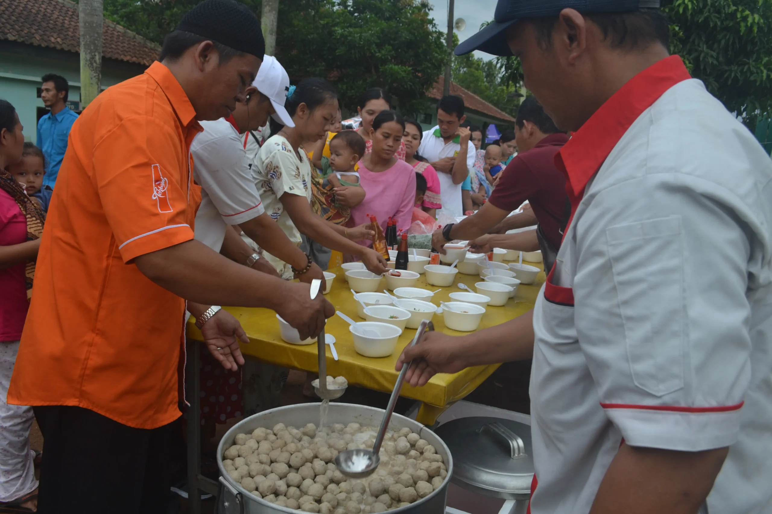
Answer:
[[[105,15],[161,44],[200,0],[104,0]],[[261,12],[259,0],[242,0]],[[282,0],[276,57],[293,82],[333,82],[341,105],[354,111],[361,93],[387,89],[405,113],[425,106],[449,52],[425,0]]]

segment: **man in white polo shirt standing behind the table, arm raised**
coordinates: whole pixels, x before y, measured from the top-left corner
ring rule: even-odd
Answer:
[[[475,146],[469,144],[472,133],[461,126],[464,120],[464,99],[455,95],[443,96],[437,103],[438,125],[424,133],[421,146],[418,146],[418,153],[438,171],[442,197],[438,217],[440,213],[454,218],[464,213],[461,185],[469,178],[476,156]]]

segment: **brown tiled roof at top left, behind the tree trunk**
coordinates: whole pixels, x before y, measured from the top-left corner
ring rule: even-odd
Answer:
[[[105,19],[102,55],[150,66],[160,47]],[[0,0],[0,39],[80,52],[78,6],[67,0]]]

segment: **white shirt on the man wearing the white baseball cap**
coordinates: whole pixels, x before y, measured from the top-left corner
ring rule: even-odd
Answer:
[[[201,186],[195,217],[195,239],[220,251],[227,225],[238,225],[263,213],[241,136],[226,119],[201,122],[204,132],[191,144],[193,177]]]

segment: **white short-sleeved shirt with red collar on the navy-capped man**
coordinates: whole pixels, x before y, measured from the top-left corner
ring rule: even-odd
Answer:
[[[672,56],[556,156],[572,218],[533,314],[533,514],[621,442],[730,452],[702,512],[772,512],[772,161]]]

